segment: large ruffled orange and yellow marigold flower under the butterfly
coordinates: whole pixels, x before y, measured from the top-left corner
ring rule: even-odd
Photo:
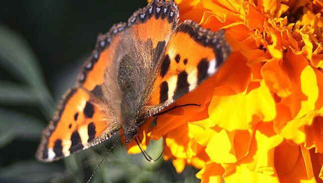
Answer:
[[[201,107],[141,127],[144,148],[164,136],[164,159],[201,169],[202,183],[323,182],[322,1],[175,1],[180,21],[225,29],[233,53],[174,104]]]

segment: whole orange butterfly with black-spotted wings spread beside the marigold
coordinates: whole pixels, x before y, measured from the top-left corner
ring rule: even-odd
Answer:
[[[42,133],[37,159],[59,160],[121,128],[128,144],[145,119],[214,75],[231,53],[224,30],[178,20],[173,1],[152,0],[127,23],[98,35],[76,85]]]

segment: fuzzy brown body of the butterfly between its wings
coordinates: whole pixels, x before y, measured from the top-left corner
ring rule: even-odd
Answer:
[[[118,85],[122,91],[121,117],[126,144],[136,138],[139,126],[143,120],[138,120],[140,108],[143,103],[144,87],[147,85],[145,73],[151,67],[145,67],[144,60],[151,59],[140,54],[126,54],[119,65]]]

